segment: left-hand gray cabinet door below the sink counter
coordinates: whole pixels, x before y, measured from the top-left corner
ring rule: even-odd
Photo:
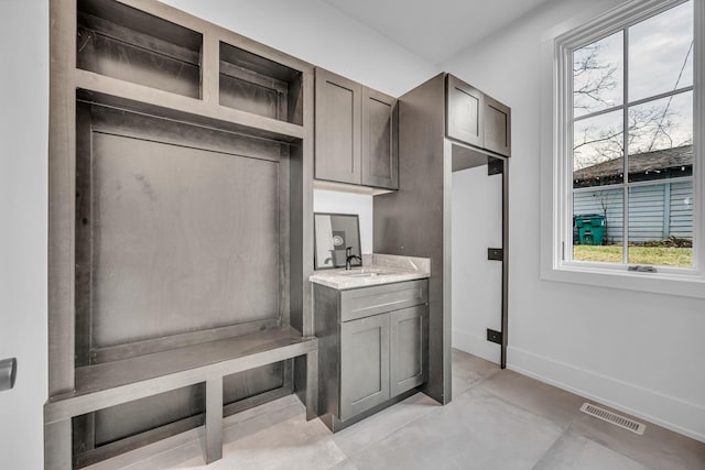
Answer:
[[[340,420],[389,396],[389,315],[341,323]]]

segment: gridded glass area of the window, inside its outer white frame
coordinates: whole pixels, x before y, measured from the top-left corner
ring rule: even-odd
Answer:
[[[693,23],[690,0],[572,48],[567,262],[693,267]]]

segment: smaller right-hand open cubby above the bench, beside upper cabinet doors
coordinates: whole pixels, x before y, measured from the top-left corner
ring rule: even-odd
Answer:
[[[220,106],[303,124],[300,70],[220,42]]]

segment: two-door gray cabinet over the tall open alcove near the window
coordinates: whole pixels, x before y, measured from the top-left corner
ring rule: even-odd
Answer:
[[[448,74],[446,134],[448,139],[511,156],[511,110]]]

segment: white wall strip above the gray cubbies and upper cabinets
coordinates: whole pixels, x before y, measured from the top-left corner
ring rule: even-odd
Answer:
[[[392,96],[437,73],[322,0],[163,1]]]

